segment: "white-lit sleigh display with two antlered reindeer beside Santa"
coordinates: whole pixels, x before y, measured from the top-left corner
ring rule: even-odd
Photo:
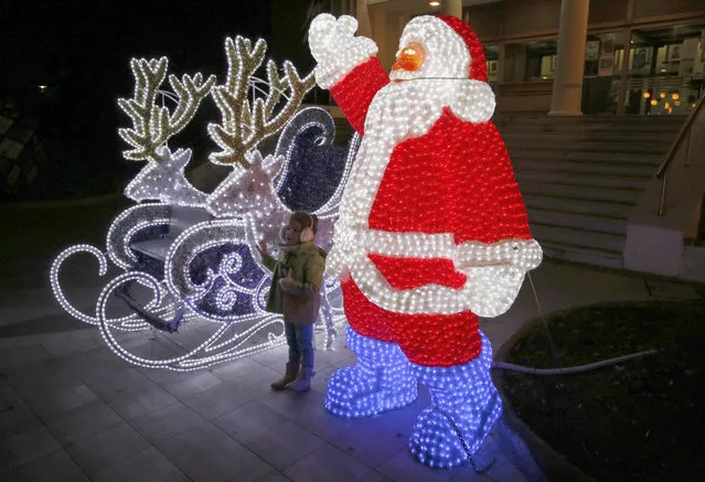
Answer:
[[[276,239],[291,211],[305,210],[319,216],[318,244],[330,248],[332,223],[360,138],[355,135],[345,147],[332,146],[330,115],[317,107],[299,110],[313,79],[300,78],[290,63],[279,77],[270,61],[268,82],[256,79],[253,74],[265,49],[261,40],[253,47],[245,39],[228,39],[228,77],[222,86],[200,74],[182,81],[170,76],[179,103],[173,113],[156,104],[167,60],[132,61],[135,98],[119,104],[135,129],[121,129],[120,135],[135,148],[126,158],[148,161],[125,190],[140,204],[113,222],[106,254],[88,245],[72,246],[51,270],[62,307],[98,325],[106,343],[130,363],[193,369],[285,343],[281,317],[265,311],[270,274],[254,247],[260,238]],[[233,171],[206,194],[185,178],[191,151],[172,152],[165,142],[192,119],[209,93],[223,113],[222,125],[209,126],[222,149],[210,160]],[[276,149],[263,157],[256,148],[274,135],[279,135]],[[124,271],[104,288],[95,315],[74,308],[58,283],[63,263],[75,253],[93,254],[102,276],[108,260]],[[340,285],[324,281],[316,328],[331,347],[344,315]],[[140,287],[151,290],[151,299]],[[131,313],[109,318],[108,302],[115,298]],[[183,353],[149,356],[121,341],[120,332],[143,330],[180,336]]]

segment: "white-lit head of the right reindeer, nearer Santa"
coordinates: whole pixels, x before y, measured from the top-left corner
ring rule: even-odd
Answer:
[[[235,165],[206,201],[216,217],[250,216],[265,219],[286,207],[275,192],[273,180],[284,164],[282,157],[261,157],[258,150],[245,154],[248,168]]]

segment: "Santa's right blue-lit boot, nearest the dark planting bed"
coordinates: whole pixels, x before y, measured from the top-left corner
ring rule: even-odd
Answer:
[[[490,377],[492,347],[480,332],[480,355],[464,365],[412,364],[428,387],[431,405],[416,419],[409,448],[425,465],[450,468],[473,457],[502,414],[502,400]]]

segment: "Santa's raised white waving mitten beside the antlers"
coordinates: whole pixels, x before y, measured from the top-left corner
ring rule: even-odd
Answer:
[[[309,49],[318,62],[316,82],[331,88],[357,65],[377,53],[377,44],[365,36],[354,36],[357,20],[350,15],[335,19],[330,13],[317,15],[309,26]]]

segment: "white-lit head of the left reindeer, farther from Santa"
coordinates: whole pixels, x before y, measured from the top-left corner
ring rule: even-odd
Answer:
[[[207,195],[193,188],[183,172],[191,160],[191,149],[171,152],[167,146],[162,146],[156,152],[156,159],[150,159],[127,185],[125,195],[138,203],[158,200],[186,206],[205,204]]]

